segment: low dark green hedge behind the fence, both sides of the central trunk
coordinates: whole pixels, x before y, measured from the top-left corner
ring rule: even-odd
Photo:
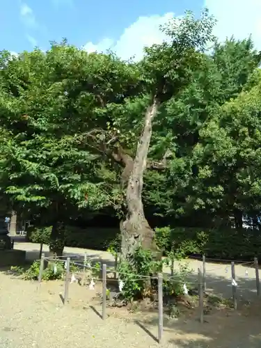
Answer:
[[[31,228],[31,242],[48,244],[52,227]],[[261,234],[250,229],[206,229],[206,228],[156,228],[155,239],[161,251],[180,249],[185,255],[203,253],[209,258],[230,260],[252,260],[261,258]],[[76,228],[67,226],[65,245],[106,250],[116,238],[119,230],[114,228]]]

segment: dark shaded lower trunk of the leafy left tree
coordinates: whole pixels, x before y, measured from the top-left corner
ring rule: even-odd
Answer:
[[[49,242],[50,256],[59,257],[63,255],[65,246],[65,223],[63,221],[55,221]]]

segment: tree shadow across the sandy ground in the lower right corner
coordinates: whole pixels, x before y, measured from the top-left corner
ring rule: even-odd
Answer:
[[[196,285],[196,276],[190,276],[189,281],[192,283],[193,278]],[[207,289],[207,294],[231,300],[231,280],[207,276],[207,283],[212,285],[211,289]],[[170,319],[166,310],[163,341],[179,348],[260,348],[261,299],[256,294],[255,279],[237,278],[237,283],[238,309],[212,306],[204,315],[203,324],[199,320],[198,308],[187,310],[178,319]],[[136,324],[149,332],[150,338],[157,340],[157,313],[151,315],[143,312],[138,322]]]

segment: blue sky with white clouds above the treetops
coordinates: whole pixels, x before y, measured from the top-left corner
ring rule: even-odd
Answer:
[[[48,49],[49,41],[69,42],[90,51],[113,49],[122,58],[142,55],[144,45],[161,42],[159,31],[184,10],[207,6],[219,20],[223,40],[253,34],[261,49],[261,0],[0,0],[0,49]],[[124,4],[124,5],[123,5]]]

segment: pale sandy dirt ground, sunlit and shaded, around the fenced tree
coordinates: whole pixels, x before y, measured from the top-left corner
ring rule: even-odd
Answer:
[[[19,243],[15,248],[26,250],[29,259],[38,258],[38,246],[29,243]],[[47,253],[47,246],[44,247]],[[108,253],[100,251],[86,251],[77,248],[66,248],[65,253],[83,255],[87,253],[94,262],[103,260],[107,264],[113,264],[113,258]],[[184,261],[187,262],[187,261]],[[181,262],[181,263],[184,263]],[[189,267],[193,272],[187,283],[196,284],[197,269],[201,267],[202,262],[199,260],[189,260]],[[237,280],[237,299],[238,310],[228,308],[212,307],[205,314],[204,324],[200,324],[198,308],[185,308],[181,306],[180,317],[178,319],[170,319],[168,313],[164,315],[164,347],[204,347],[204,348],[260,348],[261,347],[261,298],[256,294],[255,290],[255,269],[252,264],[236,265]],[[178,264],[175,264],[178,267]],[[168,273],[168,269],[164,269]],[[247,271],[247,272],[246,272]],[[223,294],[224,298],[231,297],[231,276],[230,264],[206,264],[207,274],[207,292],[213,294]],[[106,308],[106,321],[100,318],[102,306],[99,298],[101,291],[100,283],[95,285],[95,290],[90,290],[88,286],[82,287],[77,283],[73,283],[69,288],[69,303],[63,306],[61,297],[64,293],[64,282],[53,281],[42,283],[37,291],[37,284],[19,280],[6,274],[0,273],[1,287],[1,319],[5,317],[0,324],[0,333],[3,338],[10,338],[11,333],[15,335],[16,331],[23,332],[23,326],[26,326],[29,333],[28,324],[18,321],[15,324],[14,319],[11,320],[11,326],[15,324],[16,329],[8,331],[10,320],[6,319],[11,312],[6,309],[5,293],[10,299],[14,299],[16,303],[15,311],[17,313],[30,313],[30,320],[37,322],[37,314],[35,311],[40,310],[42,320],[45,324],[36,325],[34,332],[42,331],[42,327],[51,330],[54,335],[56,332],[63,332],[61,342],[56,345],[47,335],[43,342],[39,342],[32,338],[32,342],[26,339],[26,345],[1,345],[1,347],[58,347],[62,348],[71,345],[71,342],[90,342],[92,347],[159,347],[157,344],[157,322],[158,315],[155,308]],[[20,301],[17,301],[17,298]],[[10,300],[12,301],[12,300]],[[27,304],[26,304],[27,303]],[[11,306],[13,308],[13,305]],[[29,311],[29,308],[32,308]],[[39,309],[40,308],[40,309]],[[43,309],[44,308],[44,309]],[[48,315],[47,315],[48,313]],[[27,314],[28,315],[28,314]],[[45,319],[45,316],[49,319]],[[20,314],[20,316],[23,316]],[[15,318],[18,318],[16,315]],[[51,319],[52,318],[52,319]],[[60,319],[57,319],[60,318]],[[61,318],[63,321],[61,322]],[[84,319],[83,319],[84,318]],[[26,319],[26,318],[24,318]],[[50,320],[53,322],[50,323]],[[83,322],[84,320],[84,322]],[[9,326],[8,326],[9,322]],[[84,324],[83,324],[84,323]],[[32,324],[33,325],[33,324]],[[33,330],[33,326],[30,329]],[[17,329],[18,328],[18,329]],[[87,330],[87,331],[86,331]],[[81,333],[79,335],[79,332]],[[113,337],[113,345],[109,343],[109,339]],[[122,340],[124,338],[124,340]],[[0,340],[1,342],[1,340]],[[13,343],[15,344],[13,339]],[[34,344],[34,345],[33,345]],[[82,343],[81,343],[82,344]],[[87,343],[88,344],[88,343]],[[77,345],[75,345],[78,347]],[[72,345],[71,345],[72,347]],[[84,347],[79,345],[79,347]]]

